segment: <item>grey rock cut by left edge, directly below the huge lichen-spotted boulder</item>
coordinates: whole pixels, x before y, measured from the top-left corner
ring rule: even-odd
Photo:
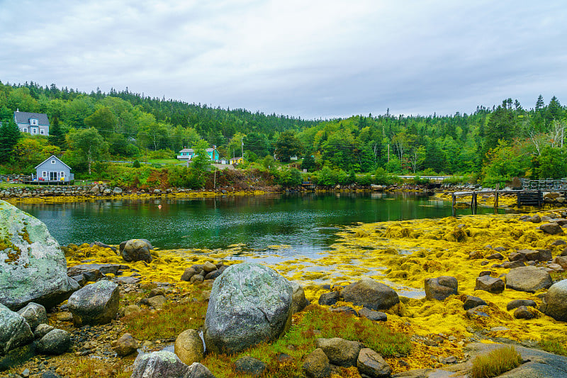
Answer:
[[[32,341],[33,333],[26,319],[0,304],[0,355]]]

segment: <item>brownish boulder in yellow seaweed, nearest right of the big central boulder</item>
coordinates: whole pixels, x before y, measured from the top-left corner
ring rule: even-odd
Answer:
[[[363,278],[359,282],[349,284],[342,289],[341,293],[344,301],[371,310],[387,310],[400,303],[398,293],[385,284],[370,278]]]

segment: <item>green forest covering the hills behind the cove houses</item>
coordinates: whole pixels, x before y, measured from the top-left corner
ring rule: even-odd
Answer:
[[[19,133],[16,110],[47,113],[50,136]],[[244,167],[283,165],[336,177],[454,174],[491,186],[515,176],[567,177],[566,110],[555,96],[546,102],[540,95],[530,108],[510,98],[471,114],[396,116],[387,110],[305,120],[150,98],[128,88],[87,94],[0,82],[0,173],[30,173],[55,154],[92,177],[110,160],[173,159],[200,143],[215,145],[226,158],[244,152]]]

